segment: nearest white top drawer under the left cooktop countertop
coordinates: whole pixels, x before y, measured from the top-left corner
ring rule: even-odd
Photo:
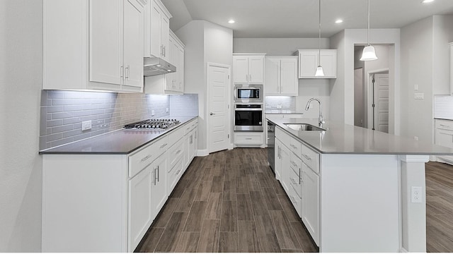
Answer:
[[[138,152],[129,156],[129,177],[134,176],[139,171],[147,167],[159,155],[163,154],[168,149],[168,136],[156,140],[151,145],[142,148]]]

